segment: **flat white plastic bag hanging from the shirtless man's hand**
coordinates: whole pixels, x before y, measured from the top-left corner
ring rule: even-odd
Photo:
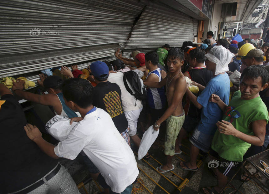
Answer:
[[[143,134],[143,137],[140,142],[140,146],[138,149],[138,160],[141,160],[149,151],[151,145],[155,142],[158,137],[159,131],[155,131],[153,129],[153,125],[149,127],[148,130]]]

